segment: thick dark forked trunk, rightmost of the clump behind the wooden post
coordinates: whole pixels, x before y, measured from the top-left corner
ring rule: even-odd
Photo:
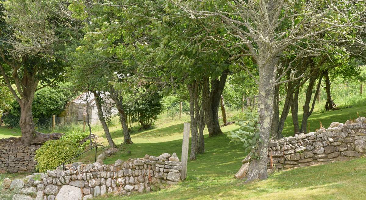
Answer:
[[[229,74],[229,70],[226,69],[221,73],[220,80],[218,78],[211,79],[211,88],[209,88],[208,79],[205,89],[208,96],[205,101],[205,121],[209,132],[209,137],[222,134],[219,124],[219,104],[221,95],[223,93],[226,78]],[[208,87],[207,87],[208,86]]]

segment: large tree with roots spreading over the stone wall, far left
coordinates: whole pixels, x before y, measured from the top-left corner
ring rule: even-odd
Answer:
[[[36,90],[63,78],[62,51],[72,41],[76,23],[68,23],[60,14],[64,5],[57,0],[6,0],[1,10],[0,72],[20,105],[21,141],[28,146],[59,138],[60,134],[34,129],[32,104]]]

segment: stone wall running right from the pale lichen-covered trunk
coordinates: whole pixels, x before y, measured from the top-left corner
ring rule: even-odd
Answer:
[[[292,168],[361,157],[366,152],[366,118],[333,122],[328,129],[271,140],[268,168]]]

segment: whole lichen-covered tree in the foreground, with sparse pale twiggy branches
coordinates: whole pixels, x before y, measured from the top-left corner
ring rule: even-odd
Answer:
[[[220,18],[229,34],[237,38],[235,45],[241,44],[243,52],[234,57],[251,56],[258,65],[258,112],[259,135],[263,143],[255,150],[258,159],[252,159],[247,174],[247,181],[265,179],[267,174],[267,148],[270,131],[272,129],[273,102],[275,86],[285,82],[302,78],[290,76],[290,79],[281,81],[281,78],[291,71],[292,62],[283,73],[277,75],[281,67],[279,58],[286,53],[294,53],[298,58],[313,54],[317,49],[300,45],[309,41],[322,42],[321,33],[341,33],[334,37],[336,41],[341,37],[345,41],[352,25],[364,27],[365,16],[362,1],[208,1],[182,2],[174,1],[191,18]],[[354,12],[352,12],[354,11]],[[357,13],[356,15],[349,15]],[[329,42],[329,40],[328,40]],[[301,48],[300,48],[301,47]],[[295,51],[292,51],[292,49]]]

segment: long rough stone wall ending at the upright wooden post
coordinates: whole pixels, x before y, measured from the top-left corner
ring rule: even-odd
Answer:
[[[85,200],[107,193],[130,195],[160,190],[165,185],[177,184],[180,171],[182,162],[176,154],[163,153],[126,162],[116,160],[115,164],[103,164],[101,160],[92,164],[68,164],[64,170],[40,174],[40,180],[35,181],[37,174],[34,174],[26,180],[6,179],[4,186],[18,190],[15,199]]]

